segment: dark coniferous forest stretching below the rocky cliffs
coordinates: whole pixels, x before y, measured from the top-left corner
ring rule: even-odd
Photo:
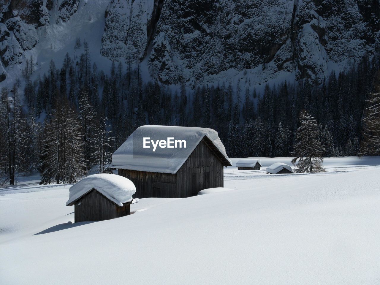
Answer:
[[[240,81],[192,89],[184,81],[179,88],[144,81],[138,59],[102,70],[86,41],[76,47],[82,44],[80,57],[67,54],[62,66],[51,60],[45,74],[36,74],[28,59],[22,78],[2,88],[1,184],[34,171],[43,184],[73,183],[93,166],[107,172],[112,152],[144,124],[213,128],[230,157],[288,157],[305,111],[317,123],[322,156],[378,152],[368,142],[378,130],[367,114],[378,102],[378,57],[364,57],[321,84],[284,81],[257,92]]]

